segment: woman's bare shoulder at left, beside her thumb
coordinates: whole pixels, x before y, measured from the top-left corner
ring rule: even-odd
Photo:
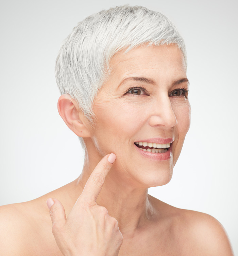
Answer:
[[[1,206],[0,255],[54,255],[46,252],[48,242],[56,246],[51,226],[46,203],[38,198]]]

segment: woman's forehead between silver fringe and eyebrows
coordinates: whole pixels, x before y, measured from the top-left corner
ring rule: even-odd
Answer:
[[[169,74],[172,70],[186,74],[186,65],[182,51],[174,44],[145,45],[115,54],[110,61],[110,70],[111,77],[123,79],[130,75]]]

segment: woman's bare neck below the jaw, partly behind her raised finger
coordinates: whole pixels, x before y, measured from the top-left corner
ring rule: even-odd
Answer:
[[[84,168],[77,179],[77,187],[81,187],[81,190],[99,160],[97,156],[89,156],[87,152],[85,153]],[[115,165],[106,176],[97,204],[105,207],[108,214],[117,219],[119,229],[124,236],[133,235],[143,229],[153,213],[148,200],[148,188],[133,183],[128,174],[123,175],[122,170],[117,170]]]

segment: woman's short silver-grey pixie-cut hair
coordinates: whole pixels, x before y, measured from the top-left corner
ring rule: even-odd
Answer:
[[[73,28],[56,59],[55,76],[61,94],[69,94],[92,125],[92,104],[110,74],[111,58],[120,50],[128,52],[146,43],[176,44],[187,67],[184,40],[163,14],[143,6],[123,5],[88,16]]]

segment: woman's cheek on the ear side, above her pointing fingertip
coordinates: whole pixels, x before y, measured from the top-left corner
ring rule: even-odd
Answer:
[[[115,153],[123,159],[125,145],[134,142],[133,135],[142,126],[141,120],[145,120],[144,111],[139,105],[114,101],[113,104],[95,105],[94,113],[97,120],[91,139],[97,151],[102,156]]]

